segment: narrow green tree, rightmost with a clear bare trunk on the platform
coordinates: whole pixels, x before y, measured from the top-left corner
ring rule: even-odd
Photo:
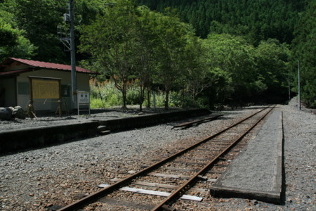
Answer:
[[[169,13],[169,16],[161,16],[157,25],[157,46],[155,52],[159,59],[157,73],[157,82],[164,85],[166,98],[164,107],[169,108],[169,94],[171,89],[185,76],[186,46],[187,41],[193,36],[193,30],[190,25],[180,23],[175,15]]]

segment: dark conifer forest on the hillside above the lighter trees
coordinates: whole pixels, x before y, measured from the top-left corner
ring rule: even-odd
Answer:
[[[176,8],[180,20],[195,27],[203,38],[209,33],[246,35],[253,44],[275,38],[291,43],[304,0],[138,0],[152,10]]]

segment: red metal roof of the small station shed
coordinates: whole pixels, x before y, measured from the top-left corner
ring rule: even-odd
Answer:
[[[53,69],[53,70],[67,70],[71,71],[72,66],[71,65],[62,65],[58,63],[46,63],[46,62],[41,62],[38,60],[27,60],[27,59],[22,59],[22,58],[8,58],[7,60],[14,60],[19,63],[23,63],[25,65],[29,65],[32,68],[45,68],[45,69]],[[80,68],[76,66],[76,71],[77,72],[83,72],[83,73],[88,73],[88,74],[96,74],[98,75],[98,72],[93,72],[91,70],[87,70],[85,68]]]

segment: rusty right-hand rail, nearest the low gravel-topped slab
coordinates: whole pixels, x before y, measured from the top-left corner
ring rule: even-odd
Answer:
[[[273,107],[275,108],[275,106]],[[271,112],[271,110],[273,110],[273,108],[271,108],[268,113]],[[249,129],[247,129],[246,132],[244,132],[242,135],[240,135],[235,141],[233,141],[232,144],[230,144],[230,146],[228,146],[227,148],[225,148],[220,154],[218,154],[215,158],[213,158],[213,160],[211,160],[209,163],[207,163],[202,170],[199,170],[199,172],[197,172],[193,177],[191,177],[188,181],[186,181],[182,186],[180,186],[176,191],[174,191],[173,193],[171,193],[170,196],[168,196],[164,201],[162,201],[162,203],[160,203],[159,205],[157,205],[156,207],[154,207],[152,209],[152,211],[156,211],[156,210],[168,210],[168,207],[164,207],[166,206],[166,204],[171,203],[172,201],[180,198],[180,196],[183,195],[184,191],[186,191],[187,189],[189,189],[191,186],[193,186],[196,181],[197,178],[199,177],[199,175],[203,174],[204,172],[206,172],[207,169],[209,169],[209,167],[211,165],[214,165],[215,162],[218,160],[218,158],[220,158],[221,156],[225,155],[225,153],[227,153],[228,151],[230,151],[230,149],[235,146],[240,140],[242,140],[242,138],[244,138],[244,136],[246,134],[248,134],[251,129],[254,129],[254,127],[256,127],[256,125],[261,122],[261,120],[263,120],[264,117],[266,117],[268,115],[268,113],[266,113],[265,115],[263,115],[263,117],[261,117],[257,122],[255,122],[251,127],[249,127]]]

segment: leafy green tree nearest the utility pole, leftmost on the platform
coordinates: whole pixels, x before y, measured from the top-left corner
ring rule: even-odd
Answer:
[[[90,53],[103,66],[103,75],[110,75],[123,96],[126,108],[127,84],[135,72],[137,27],[136,6],[130,1],[119,1],[108,6],[103,15],[84,27],[81,51]]]

